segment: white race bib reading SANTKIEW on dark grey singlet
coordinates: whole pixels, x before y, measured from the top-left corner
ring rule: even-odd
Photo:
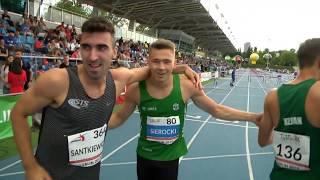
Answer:
[[[68,136],[69,163],[89,167],[100,162],[107,124]]]

